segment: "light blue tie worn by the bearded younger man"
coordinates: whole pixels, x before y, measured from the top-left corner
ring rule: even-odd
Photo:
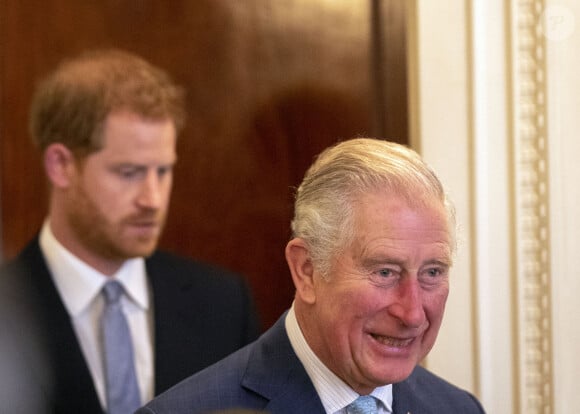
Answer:
[[[133,343],[121,308],[123,286],[109,281],[103,287],[105,309],[101,320],[108,414],[129,414],[141,406],[133,360]]]

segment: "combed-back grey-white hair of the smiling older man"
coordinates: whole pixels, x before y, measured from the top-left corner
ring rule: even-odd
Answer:
[[[405,198],[412,207],[441,202],[455,251],[455,209],[419,154],[394,142],[355,138],[323,151],[296,191],[293,237],[306,242],[313,265],[325,277],[352,242],[353,211],[361,196],[379,190]]]

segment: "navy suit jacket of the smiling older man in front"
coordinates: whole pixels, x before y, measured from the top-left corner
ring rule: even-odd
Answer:
[[[156,397],[136,414],[209,414],[229,409],[325,414],[284,327],[285,315],[256,342]],[[475,397],[417,367],[393,385],[394,414],[481,414]],[[235,412],[235,411],[231,411]]]

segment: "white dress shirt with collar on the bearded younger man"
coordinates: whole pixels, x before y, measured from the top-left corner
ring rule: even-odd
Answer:
[[[108,276],[96,271],[66,250],[54,237],[48,220],[40,232],[40,248],[54,284],[71,318],[101,406],[106,408],[100,319],[104,307],[101,289]],[[135,369],[143,402],[153,398],[153,324],[145,261],[127,260],[110,278],[125,289],[121,304],[129,323]]]

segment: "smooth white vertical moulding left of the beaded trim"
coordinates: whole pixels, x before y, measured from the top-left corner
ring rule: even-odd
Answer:
[[[468,30],[472,65],[470,173],[472,267],[477,303],[480,397],[490,413],[515,413],[516,320],[512,254],[509,62],[504,0],[472,1]]]

